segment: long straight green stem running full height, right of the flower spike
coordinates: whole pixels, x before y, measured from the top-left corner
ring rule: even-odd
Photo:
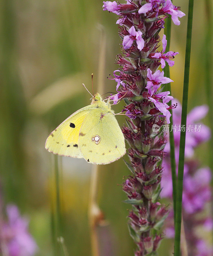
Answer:
[[[182,114],[181,114],[181,127],[183,127],[182,125],[184,125],[185,130],[180,132],[174,256],[180,256],[183,171],[184,171],[184,156],[185,156],[185,142],[186,142],[186,117],[187,117],[189,68],[190,68],[190,54],[191,54],[191,41],[192,41],[193,6],[194,6],[194,0],[189,0],[187,35],[186,35],[186,56],[185,56],[185,68],[184,68],[184,82],[183,82],[183,102],[182,102]]]

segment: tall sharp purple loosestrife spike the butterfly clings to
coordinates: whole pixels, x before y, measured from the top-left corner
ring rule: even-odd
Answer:
[[[129,163],[126,164],[132,173],[122,187],[127,195],[125,202],[133,205],[128,227],[137,245],[135,256],[156,255],[162,239],[160,230],[169,209],[159,203],[164,172],[160,161],[164,158],[167,138],[163,129],[156,133],[153,127],[163,128],[166,122],[170,123],[168,109],[176,107],[167,105],[173,99],[170,92],[163,92],[163,88],[158,91],[162,84],[172,82],[158,68],[160,65],[163,68],[165,61],[173,66],[172,59],[178,53],[165,53],[165,36],[163,51],[157,52],[158,33],[168,17],[164,0],[104,2],[103,8],[118,14],[118,34],[123,46],[116,60],[119,68],[110,78],[116,81],[118,93],[111,95],[110,100],[116,104],[124,99],[126,106],[121,112],[130,118],[122,130],[129,144]]]

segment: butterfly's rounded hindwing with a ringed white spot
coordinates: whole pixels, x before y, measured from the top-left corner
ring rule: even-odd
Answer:
[[[94,108],[80,129],[79,147],[92,164],[110,164],[126,153],[124,135],[112,112]]]

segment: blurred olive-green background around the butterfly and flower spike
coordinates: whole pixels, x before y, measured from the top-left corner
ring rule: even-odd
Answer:
[[[123,1],[126,2],[126,1]],[[122,3],[122,1],[121,1]],[[188,1],[174,0],[187,14]],[[90,104],[91,73],[97,90],[100,36],[106,33],[105,92],[115,91],[106,77],[117,65],[121,52],[117,15],[102,11],[99,0],[3,0],[1,27],[1,112],[0,159],[4,202],[15,203],[30,219],[30,232],[39,246],[37,255],[53,255],[51,212],[55,204],[53,156],[44,148],[49,133],[67,116]],[[180,26],[172,24],[171,50],[179,52],[170,69],[172,95],[182,99],[187,15]],[[189,84],[190,110],[206,102],[205,34],[203,1],[194,1],[194,20]],[[163,31],[162,31],[163,32]],[[210,53],[209,53],[210,54]],[[211,86],[209,84],[209,86]],[[115,106],[120,112],[122,107]],[[125,117],[119,116],[122,125]],[[209,125],[208,117],[204,123]],[[202,165],[208,164],[210,150],[197,150]],[[61,160],[60,160],[61,159]],[[91,165],[83,159],[61,157],[62,225],[69,255],[91,255],[87,220]],[[128,175],[122,160],[100,167],[98,201],[110,222],[115,255],[133,255],[134,244],[126,225],[126,199],[120,186]],[[160,255],[170,255],[161,246]]]

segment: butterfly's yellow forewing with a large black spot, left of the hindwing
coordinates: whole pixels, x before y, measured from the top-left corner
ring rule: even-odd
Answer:
[[[49,134],[45,148],[60,156],[83,158],[78,145],[79,133],[85,117],[93,108],[92,105],[89,105],[69,116]]]

